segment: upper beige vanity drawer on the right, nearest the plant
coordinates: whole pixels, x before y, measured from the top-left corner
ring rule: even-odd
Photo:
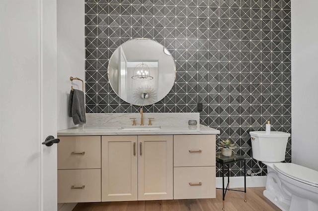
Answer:
[[[215,135],[174,135],[173,165],[215,166]]]

